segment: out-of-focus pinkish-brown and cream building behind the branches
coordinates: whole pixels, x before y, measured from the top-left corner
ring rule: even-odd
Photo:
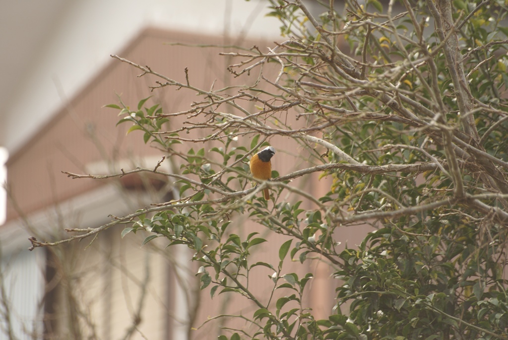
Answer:
[[[196,100],[185,90],[150,92],[153,77],[137,77],[139,70],[110,54],[179,81],[185,81],[187,68],[198,87],[225,84],[231,60],[218,55],[223,49],[191,45],[271,46],[278,23],[264,17],[265,6],[262,0],[0,0],[0,41],[7,47],[0,63],[6,75],[0,83],[0,145],[9,150],[10,195],[7,221],[0,226],[0,339],[213,338],[230,321],[207,323],[209,317],[255,307],[210,300],[208,290],[199,291],[197,268],[187,262],[185,248],[166,250],[162,240],[141,248],[146,234],[121,239],[121,226],[101,233],[91,245],[90,238],[28,252],[27,238],[58,240],[69,235],[66,228],[98,227],[111,221],[110,215],[125,215],[173,194],[172,183],[156,176],[98,181],[61,173],[118,173],[154,167],[161,159],[163,153],[144,145],[136,132],[126,136],[126,127],[115,127],[117,112],[103,106],[117,103],[118,95],[131,107],[152,95],[148,103],[160,104],[165,112],[187,109]],[[169,123],[177,126],[178,119]],[[271,142],[297,152],[290,139]],[[274,168],[287,173],[302,167],[294,156],[278,153]],[[172,161],[161,169],[169,171]],[[327,190],[314,182],[312,188],[305,181],[295,185],[316,195]],[[265,232],[247,217],[236,217],[235,224],[244,226],[243,235]],[[277,250],[266,247],[256,254],[261,261],[276,256]],[[308,303],[317,313],[328,313],[334,294],[328,269],[308,266],[316,276]],[[267,289],[269,274],[260,273],[256,291]],[[189,325],[198,329],[189,331]]]

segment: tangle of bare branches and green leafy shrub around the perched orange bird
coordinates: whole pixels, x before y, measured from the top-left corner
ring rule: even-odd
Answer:
[[[180,197],[78,238],[125,223],[122,236],[146,230],[144,243],[186,244],[201,264],[202,289],[258,306],[241,316],[249,332],[221,339],[507,338],[506,2],[347,0],[318,11],[300,0],[269,3],[286,40],[223,53],[234,57],[232,77],[250,74],[252,84],[200,89],[114,56],[157,76],[154,90],[185,88],[200,99],[182,112],[148,107],[148,99],[136,109],[109,105],[129,132],[141,130],[145,143],[181,164],[175,173],[158,171],[160,164],[132,172],[168,176]],[[268,63],[277,74],[265,72]],[[176,116],[188,120],[168,131],[164,123]],[[195,131],[202,137],[187,136]],[[308,167],[274,171],[250,189],[248,160],[273,136],[294,139]],[[332,179],[326,195],[292,186],[312,173]],[[269,202],[259,195],[265,187]],[[232,233],[235,213],[289,236],[278,259],[250,256],[267,240]],[[359,224],[376,231],[339,250],[337,230]],[[312,275],[282,269],[315,255],[333,266],[338,285],[336,308],[323,320],[302,302]],[[274,272],[268,297],[249,289],[259,266]],[[275,291],[283,296],[273,298]]]

